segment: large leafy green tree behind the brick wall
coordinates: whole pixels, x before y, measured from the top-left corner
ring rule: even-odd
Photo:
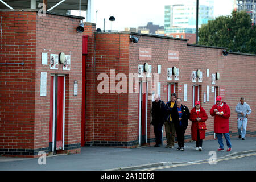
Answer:
[[[199,44],[226,47],[233,52],[256,53],[256,26],[245,11],[232,11],[199,28]]]

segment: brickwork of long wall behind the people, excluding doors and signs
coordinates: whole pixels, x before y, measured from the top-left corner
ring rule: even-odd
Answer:
[[[162,73],[159,75],[159,81],[161,82],[161,97],[164,102],[167,102],[167,92],[163,92],[163,86],[167,86],[168,83],[175,83],[176,93],[184,100],[184,84],[187,84],[188,98],[187,101],[183,101],[183,104],[187,105],[191,110],[193,105],[192,86],[200,86],[200,101],[208,114],[206,139],[213,139],[213,117],[209,114],[209,110],[214,104],[214,93],[211,92],[212,86],[224,87],[226,90],[224,101],[230,106],[232,113],[230,117],[230,133],[232,136],[237,136],[237,114],[234,109],[240,97],[245,97],[253,110],[247,126],[247,135],[255,135],[256,127],[254,123],[256,115],[254,113],[254,103],[256,99],[253,94],[256,90],[256,82],[254,81],[255,55],[229,53],[228,56],[223,56],[222,48],[193,46],[192,44],[187,44],[187,41],[184,40],[162,38],[160,36],[142,34],[136,34],[136,36],[139,37],[138,43],[131,43],[129,34],[126,33],[96,34],[96,82],[94,89],[97,89],[97,85],[101,82],[101,80],[97,81],[98,74],[106,73],[110,75],[110,69],[115,69],[115,75],[120,72],[125,74],[138,73],[138,64],[147,62],[152,65],[152,73],[154,74],[157,73],[157,65],[160,64],[162,65]],[[122,37],[123,39],[121,39]],[[127,48],[128,44],[129,48]],[[151,61],[139,60],[139,47],[152,49]],[[128,52],[126,52],[127,50]],[[179,51],[179,62],[168,61],[168,50]],[[126,55],[127,53],[128,55]],[[122,57],[123,55],[125,57]],[[129,64],[128,71],[127,64]],[[173,66],[179,68],[179,80],[174,80],[174,78],[167,80],[167,68],[172,68]],[[203,72],[203,81],[194,83],[192,82],[192,71],[197,69]],[[210,70],[209,77],[206,77],[207,69]],[[211,75],[216,72],[220,72],[220,80],[216,80],[216,84],[212,85]],[[115,81],[115,84],[117,82]],[[209,102],[204,103],[203,96],[204,92],[207,92],[207,85],[210,86]],[[179,91],[180,87],[181,92]],[[136,93],[95,93],[94,144],[110,145],[111,143],[107,141],[113,141],[115,146],[121,146],[118,142],[125,140],[127,143],[133,143],[137,141],[138,98]],[[148,100],[147,139],[152,142],[154,141],[154,131],[152,125],[150,125],[150,110],[151,101]],[[187,140],[191,139],[190,121],[185,135]],[[154,142],[151,144],[154,144]],[[124,147],[129,147],[129,145]]]

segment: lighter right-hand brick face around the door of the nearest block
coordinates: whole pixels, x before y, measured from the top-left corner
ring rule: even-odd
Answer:
[[[47,14],[37,19],[36,29],[36,94],[35,113],[35,147],[43,148],[48,144],[49,131],[49,91],[50,75],[66,75],[65,85],[65,143],[66,149],[80,148],[81,142],[81,94],[82,94],[82,34],[76,31],[80,20],[68,16]],[[62,64],[58,70],[50,70],[49,65],[41,64],[41,54],[47,52],[71,56],[70,71],[63,71]],[[47,72],[47,96],[40,96],[40,72]],[[74,96],[73,82],[78,81],[78,94]]]

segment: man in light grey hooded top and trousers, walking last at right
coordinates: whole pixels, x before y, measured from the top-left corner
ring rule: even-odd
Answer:
[[[235,111],[237,113],[237,129],[239,135],[238,138],[242,137],[242,140],[245,140],[248,116],[251,114],[251,108],[249,104],[245,102],[245,98],[241,97],[240,102],[237,104]]]

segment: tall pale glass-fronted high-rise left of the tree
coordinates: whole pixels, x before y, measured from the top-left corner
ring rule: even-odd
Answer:
[[[186,34],[196,34],[196,1],[172,2],[164,7],[164,34],[177,38],[192,37]],[[214,19],[213,6],[213,0],[199,1],[199,27]]]

